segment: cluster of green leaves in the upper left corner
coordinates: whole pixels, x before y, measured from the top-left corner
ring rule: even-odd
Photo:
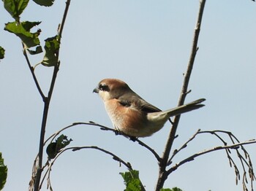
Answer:
[[[4,8],[10,15],[15,19],[14,22],[6,23],[4,30],[9,31],[12,34],[15,34],[23,42],[23,47],[31,55],[37,55],[42,50],[42,45],[40,44],[39,34],[41,29],[37,29],[32,32],[35,26],[39,26],[40,21],[20,21],[20,15],[26,9],[29,4],[29,0],[2,0],[4,1]],[[53,4],[54,0],[34,0],[37,4],[41,6],[49,7]],[[59,52],[60,38],[58,35],[49,37],[45,39],[45,55],[42,58],[43,66],[57,66],[58,64],[58,55],[56,52]],[[31,50],[34,48],[34,50]],[[0,59],[4,58],[4,49],[0,47]],[[39,64],[40,64],[39,63]],[[38,63],[35,65],[37,66]]]

